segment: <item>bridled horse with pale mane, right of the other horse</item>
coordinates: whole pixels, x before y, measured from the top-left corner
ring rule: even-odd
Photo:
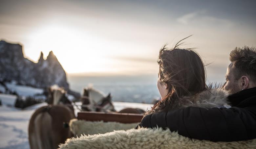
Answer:
[[[105,96],[102,92],[92,88],[84,88],[81,97],[82,111],[96,111],[96,112],[117,112],[112,103],[110,93]],[[137,113],[143,114],[145,111],[139,108],[125,108],[119,113]]]

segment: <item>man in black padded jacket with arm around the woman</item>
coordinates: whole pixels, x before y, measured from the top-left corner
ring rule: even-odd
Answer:
[[[256,138],[256,49],[235,48],[230,53],[224,89],[231,108],[185,109],[146,115],[140,127],[168,127],[182,136],[213,142]]]

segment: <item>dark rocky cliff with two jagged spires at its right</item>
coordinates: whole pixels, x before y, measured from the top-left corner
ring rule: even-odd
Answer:
[[[66,73],[52,51],[46,60],[41,52],[34,63],[24,58],[21,45],[0,41],[0,81],[11,80],[40,88],[54,84],[69,88]]]

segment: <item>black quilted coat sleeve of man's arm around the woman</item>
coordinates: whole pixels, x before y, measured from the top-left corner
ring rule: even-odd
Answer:
[[[255,113],[242,108],[187,107],[146,115],[141,127],[162,127],[182,136],[218,141],[242,141],[256,138]]]

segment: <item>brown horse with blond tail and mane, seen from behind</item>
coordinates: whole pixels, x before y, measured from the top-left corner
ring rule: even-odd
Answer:
[[[70,129],[63,125],[75,118],[73,106],[66,100],[68,99],[65,97],[64,89],[49,89],[48,103],[50,104],[37,109],[29,122],[31,149],[56,149],[58,144],[73,137]]]

